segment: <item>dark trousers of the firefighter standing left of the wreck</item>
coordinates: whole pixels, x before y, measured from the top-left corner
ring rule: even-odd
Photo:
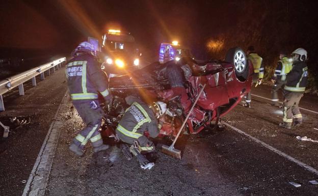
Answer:
[[[96,108],[91,108],[91,102],[95,101]],[[80,131],[73,139],[73,143],[83,149],[90,141],[94,148],[102,145],[102,138],[99,133],[103,110],[97,100],[74,100],[73,105],[76,108],[78,115],[83,119],[86,127]]]

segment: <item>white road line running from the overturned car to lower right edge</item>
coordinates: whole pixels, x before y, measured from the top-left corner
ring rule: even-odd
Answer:
[[[270,146],[270,145],[268,145],[268,144],[266,144],[266,143],[260,141],[260,140],[257,139],[256,137],[253,137],[252,135],[250,135],[250,134],[248,134],[248,133],[246,133],[246,132],[244,132],[244,131],[242,131],[242,130],[240,130],[240,129],[237,129],[236,127],[233,127],[232,125],[230,125],[230,124],[228,124],[228,123],[226,123],[226,122],[224,122],[224,121],[222,122],[222,124],[224,124],[224,125],[230,127],[231,129],[233,129],[234,131],[236,131],[236,132],[238,132],[238,133],[240,133],[240,134],[242,134],[242,135],[245,135],[245,136],[249,137],[249,138],[252,139],[254,142],[256,142],[256,143],[262,145],[262,146],[265,147],[265,148],[268,148],[269,150],[271,150],[271,151],[273,151],[273,152],[279,154],[280,156],[285,157],[286,159],[295,162],[296,164],[300,165],[301,167],[304,167],[306,170],[308,170],[308,171],[310,171],[310,172],[312,172],[312,173],[318,175],[318,171],[317,171],[316,169],[314,169],[313,167],[307,165],[306,163],[303,163],[303,162],[301,162],[300,160],[298,160],[298,159],[296,159],[296,158],[293,158],[292,156],[289,156],[289,155],[287,155],[286,153],[283,153],[282,151],[280,151],[280,150],[278,150],[278,149],[276,149],[276,148],[274,148],[274,147],[272,147],[272,146]]]

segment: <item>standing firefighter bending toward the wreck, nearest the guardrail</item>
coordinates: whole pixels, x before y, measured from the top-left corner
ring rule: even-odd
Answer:
[[[108,90],[107,75],[102,72],[97,63],[94,46],[88,42],[82,42],[71,55],[73,58],[66,69],[68,89],[73,105],[86,127],[76,135],[69,149],[76,155],[82,156],[83,149],[89,141],[95,153],[109,148],[108,145],[103,144],[98,131],[103,110],[97,98],[100,94],[105,101],[111,101],[112,96]]]

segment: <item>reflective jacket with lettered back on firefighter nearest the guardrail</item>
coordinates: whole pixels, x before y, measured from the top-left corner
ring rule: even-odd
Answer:
[[[92,55],[83,53],[74,57],[66,68],[68,88],[73,100],[97,99],[98,92],[107,99],[107,75]]]

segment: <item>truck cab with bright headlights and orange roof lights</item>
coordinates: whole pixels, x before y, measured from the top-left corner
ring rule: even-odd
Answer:
[[[127,69],[139,68],[138,49],[135,38],[130,33],[120,30],[109,30],[102,36],[102,53],[106,72],[122,73]]]

